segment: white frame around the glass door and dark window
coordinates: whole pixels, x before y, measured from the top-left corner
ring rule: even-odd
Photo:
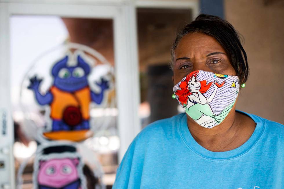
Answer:
[[[199,1],[150,1],[150,0],[0,0],[0,160],[6,169],[0,169],[0,187],[3,183],[14,185],[14,157],[12,153],[14,127],[10,99],[10,16],[57,15],[78,18],[102,18],[114,21],[114,60],[118,130],[121,140],[119,162],[133,138],[141,130],[139,120],[139,63],[136,32],[136,8],[192,9],[198,14]],[[7,132],[2,135],[3,115]],[[9,173],[7,173],[7,171]]]

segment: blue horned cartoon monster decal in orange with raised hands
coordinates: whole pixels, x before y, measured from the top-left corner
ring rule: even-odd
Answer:
[[[37,76],[30,78],[28,89],[34,91],[36,101],[42,106],[50,106],[51,128],[43,133],[47,138],[72,141],[87,138],[90,103],[102,103],[109,83],[101,78],[100,82],[96,82],[100,92],[90,89],[88,75],[91,68],[84,56],[83,52],[69,52],[57,61],[51,70],[53,84],[45,94],[39,90],[43,80]]]

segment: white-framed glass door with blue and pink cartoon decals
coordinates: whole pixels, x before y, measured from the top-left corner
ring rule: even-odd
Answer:
[[[111,187],[140,130],[129,7],[3,3],[0,12],[9,36],[0,184],[15,175],[17,188]]]

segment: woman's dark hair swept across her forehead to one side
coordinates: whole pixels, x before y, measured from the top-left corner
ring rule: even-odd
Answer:
[[[233,68],[239,76],[239,82],[241,84],[246,82],[249,74],[249,67],[247,65],[247,54],[241,45],[239,34],[229,22],[218,16],[200,14],[194,21],[185,25],[183,29],[181,29],[172,44],[171,68],[173,68],[174,63],[174,50],[176,49],[179,41],[186,34],[194,32],[214,37],[225,49]]]

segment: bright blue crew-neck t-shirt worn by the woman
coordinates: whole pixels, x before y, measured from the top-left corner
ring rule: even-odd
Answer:
[[[185,113],[150,124],[130,144],[113,189],[284,188],[284,126],[245,114],[256,122],[252,136],[225,152],[198,144]]]

